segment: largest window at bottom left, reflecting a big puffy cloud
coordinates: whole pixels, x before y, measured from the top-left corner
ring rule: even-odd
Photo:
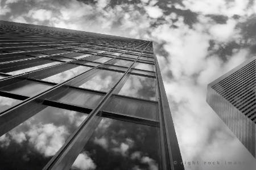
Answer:
[[[1,169],[43,169],[87,114],[47,107],[0,137]]]

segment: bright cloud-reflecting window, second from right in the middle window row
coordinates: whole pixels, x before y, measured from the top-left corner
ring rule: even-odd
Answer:
[[[82,84],[80,87],[107,92],[118,82],[122,75],[123,73],[115,71],[101,70],[98,71],[96,76]]]

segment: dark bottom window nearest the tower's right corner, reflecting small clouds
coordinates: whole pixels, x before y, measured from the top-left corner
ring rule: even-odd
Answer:
[[[102,118],[71,169],[158,169],[158,128]]]

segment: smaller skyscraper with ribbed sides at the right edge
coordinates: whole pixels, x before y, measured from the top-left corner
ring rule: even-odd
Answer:
[[[208,84],[207,103],[255,157],[255,62],[251,57]]]

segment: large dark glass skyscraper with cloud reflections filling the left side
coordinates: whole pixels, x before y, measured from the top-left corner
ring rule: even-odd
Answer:
[[[0,22],[1,169],[184,169],[152,41]]]

